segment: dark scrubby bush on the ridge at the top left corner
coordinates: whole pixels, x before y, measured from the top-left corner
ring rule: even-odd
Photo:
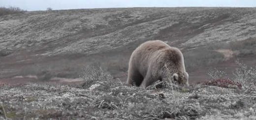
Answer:
[[[19,7],[0,7],[0,16],[9,15],[9,14],[16,14],[16,13],[24,13],[26,10],[23,10]]]

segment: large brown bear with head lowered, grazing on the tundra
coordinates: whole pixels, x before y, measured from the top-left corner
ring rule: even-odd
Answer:
[[[127,84],[146,88],[157,80],[172,80],[189,86],[183,54],[160,40],[147,41],[136,48],[129,59]]]

